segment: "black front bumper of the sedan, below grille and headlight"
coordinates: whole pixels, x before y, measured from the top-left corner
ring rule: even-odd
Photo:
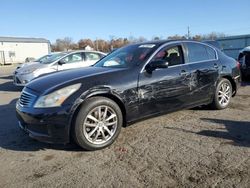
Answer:
[[[47,143],[66,144],[70,137],[70,106],[35,109],[23,108],[17,102],[19,126],[30,137]]]

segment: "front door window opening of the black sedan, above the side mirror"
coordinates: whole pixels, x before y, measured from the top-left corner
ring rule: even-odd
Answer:
[[[181,46],[163,48],[152,59],[152,61],[158,60],[168,62],[168,66],[183,64]]]

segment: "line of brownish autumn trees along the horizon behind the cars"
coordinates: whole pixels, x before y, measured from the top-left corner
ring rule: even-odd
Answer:
[[[164,40],[164,39],[192,39],[196,41],[203,41],[203,40],[216,40],[218,38],[226,37],[224,33],[217,33],[212,32],[209,34],[196,34],[192,37],[188,37],[187,35],[173,35],[164,37],[153,37],[151,40]],[[65,37],[62,39],[57,39],[55,43],[51,45],[51,49],[53,52],[55,51],[69,51],[69,50],[81,50],[85,49],[87,46],[92,48],[93,50],[102,51],[102,52],[110,52],[113,49],[120,48],[127,44],[137,43],[137,42],[145,42],[148,41],[145,37],[128,37],[128,38],[115,38],[110,37],[110,40],[104,39],[80,39],[78,42],[74,42],[72,38]]]

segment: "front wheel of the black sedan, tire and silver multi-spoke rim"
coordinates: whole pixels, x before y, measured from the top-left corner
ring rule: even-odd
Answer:
[[[75,121],[73,137],[86,150],[98,150],[111,145],[123,124],[119,106],[106,97],[92,97],[82,105]]]

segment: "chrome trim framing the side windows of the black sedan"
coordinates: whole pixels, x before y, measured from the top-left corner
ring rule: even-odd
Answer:
[[[209,45],[209,44],[206,44],[206,43],[202,43],[202,42],[198,42],[198,41],[173,41],[173,42],[167,42],[163,45],[161,45],[150,57],[149,59],[146,61],[146,63],[144,64],[144,66],[142,67],[140,73],[144,72],[145,71],[145,67],[147,66],[147,64],[153,59],[153,57],[160,51],[162,50],[164,47],[168,46],[168,45],[172,45],[172,44],[185,44],[185,43],[197,43],[197,44],[201,44],[201,45],[204,45],[204,46],[208,46],[210,48],[212,48],[214,51],[215,51],[215,55],[216,55],[216,59],[209,59],[209,60],[203,60],[203,61],[194,61],[194,62],[185,62],[184,60],[184,63],[183,64],[179,64],[179,65],[173,65],[173,66],[170,66],[169,68],[171,67],[178,67],[178,66],[182,66],[182,65],[192,65],[192,64],[196,64],[196,63],[204,63],[204,62],[210,62],[210,61],[218,61],[219,60],[219,57],[218,57],[218,52],[217,50],[212,46],[212,45]],[[183,54],[184,55],[184,54]],[[188,55],[188,54],[187,54]]]

